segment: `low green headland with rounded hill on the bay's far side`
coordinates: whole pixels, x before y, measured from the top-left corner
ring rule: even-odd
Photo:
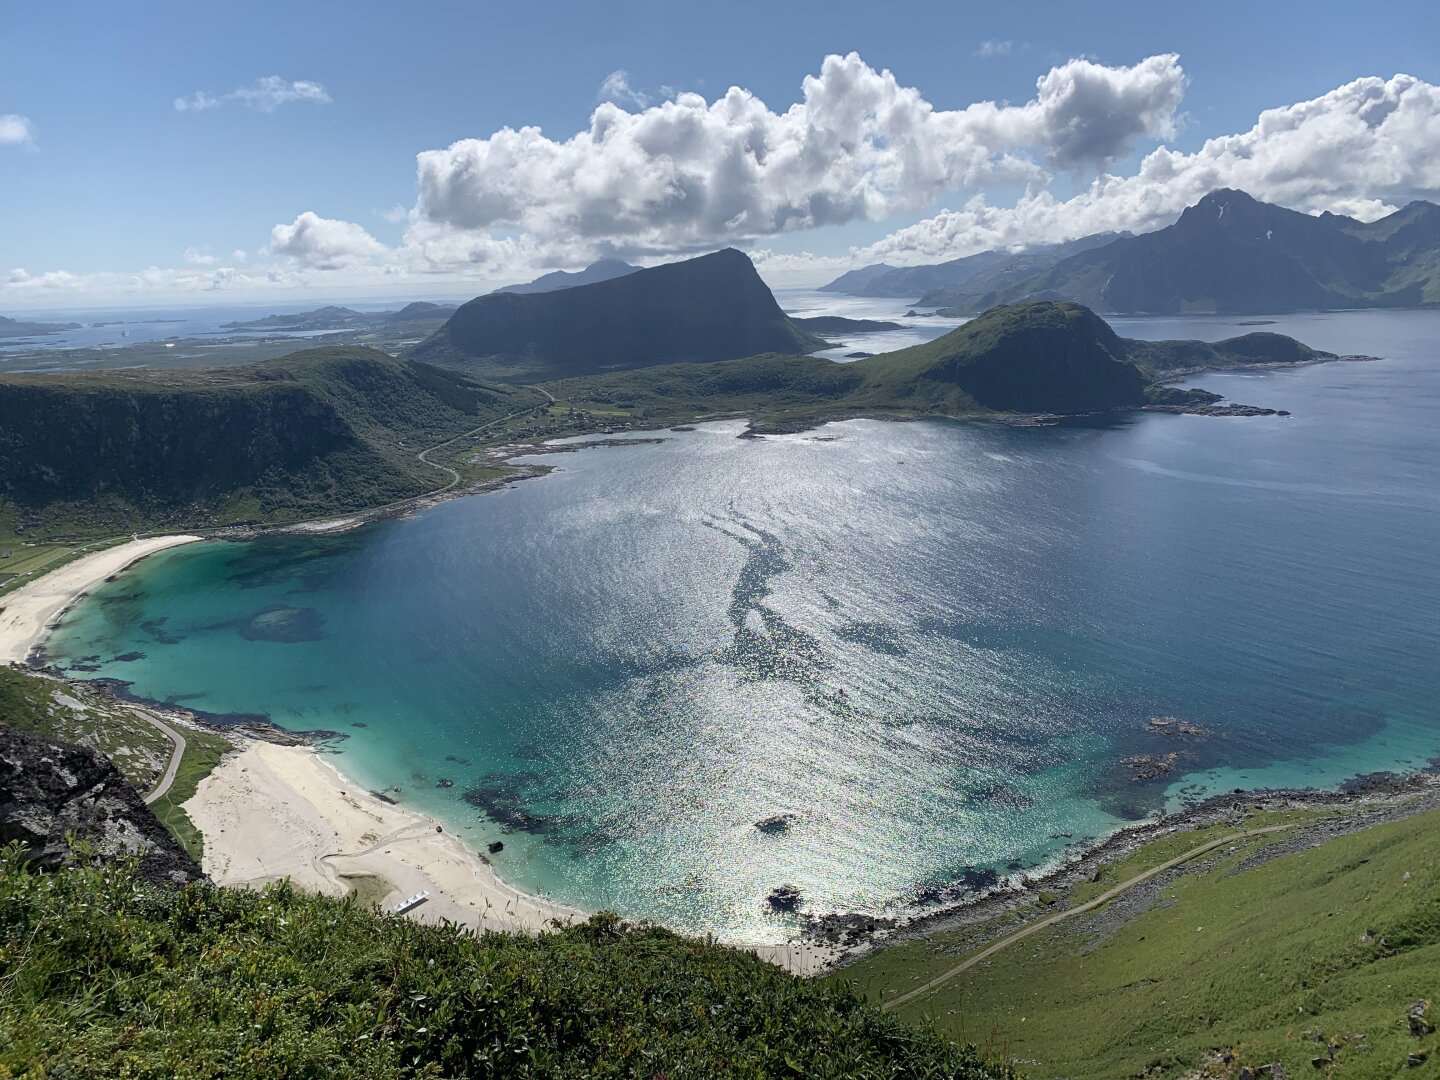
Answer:
[[[1079,304],[991,308],[945,337],[838,364],[759,356],[549,383],[557,397],[672,422],[747,412],[759,431],[845,416],[1086,413],[1146,403],[1146,386],[1182,370],[1325,357],[1282,334],[1215,344],[1135,341]]]

